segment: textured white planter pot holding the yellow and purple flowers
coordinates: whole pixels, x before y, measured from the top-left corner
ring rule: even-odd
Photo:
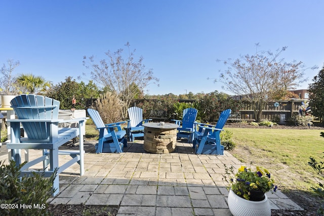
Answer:
[[[228,207],[233,216],[270,216],[271,208],[267,195],[262,201],[250,201],[243,199],[232,190],[228,194]]]

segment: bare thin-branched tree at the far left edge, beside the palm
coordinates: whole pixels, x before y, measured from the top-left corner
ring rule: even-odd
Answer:
[[[19,61],[14,61],[13,59],[7,60],[8,67],[4,66],[0,69],[0,87],[2,91],[7,95],[15,95],[18,93],[19,89],[15,83],[16,77],[13,74],[16,67],[20,65]]]

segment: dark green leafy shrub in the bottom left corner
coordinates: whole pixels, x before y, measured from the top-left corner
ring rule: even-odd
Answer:
[[[25,162],[26,163],[26,162]],[[53,191],[55,173],[44,178],[38,173],[19,178],[20,168],[15,161],[5,165],[0,161],[0,215],[49,215],[47,200]]]

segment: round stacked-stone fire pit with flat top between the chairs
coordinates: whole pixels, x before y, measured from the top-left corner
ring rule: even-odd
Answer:
[[[143,124],[145,151],[164,154],[175,150],[179,125],[163,123],[151,122]]]

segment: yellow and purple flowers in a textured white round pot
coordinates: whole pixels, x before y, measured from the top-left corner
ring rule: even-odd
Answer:
[[[228,207],[235,215],[271,215],[266,196],[268,191],[276,191],[270,172],[261,167],[255,170],[241,166],[237,172],[225,165],[223,180],[227,182]],[[243,213],[243,214],[242,214]]]

